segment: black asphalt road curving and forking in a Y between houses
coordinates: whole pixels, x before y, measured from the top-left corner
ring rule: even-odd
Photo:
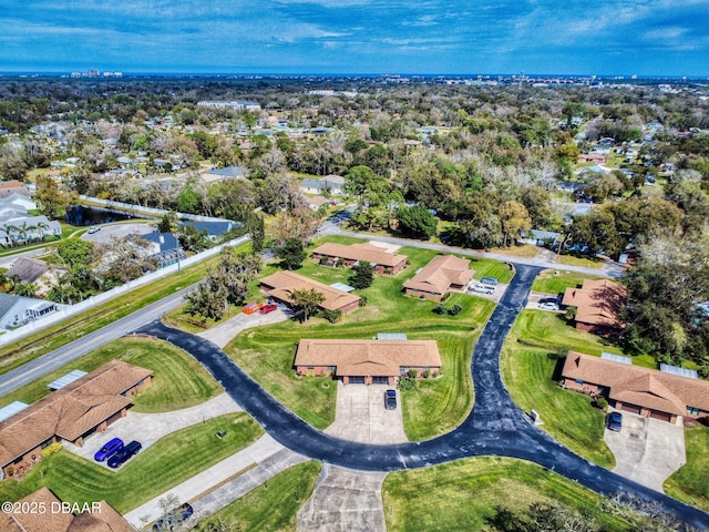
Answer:
[[[467,457],[501,456],[535,462],[590,490],[610,495],[635,493],[701,530],[709,514],[595,466],[549,438],[514,406],[500,376],[500,351],[530,293],[540,267],[518,265],[473,352],[475,403],[455,430],[432,440],[372,446],[320,432],[268,395],[224,351],[209,341],[153,321],[137,332],[163,338],[189,352],[227,393],[282,446],[316,460],[364,471],[395,471]]]

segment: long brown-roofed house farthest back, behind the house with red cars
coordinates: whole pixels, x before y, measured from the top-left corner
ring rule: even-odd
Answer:
[[[397,255],[372,244],[345,244],[327,243],[312,250],[314,260],[326,266],[354,266],[360,260],[367,260],[374,266],[376,274],[398,274],[407,267],[409,258],[405,255]]]

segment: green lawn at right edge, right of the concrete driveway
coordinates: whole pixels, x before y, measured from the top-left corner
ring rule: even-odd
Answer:
[[[709,427],[685,429],[687,463],[665,481],[665,492],[709,512]]]

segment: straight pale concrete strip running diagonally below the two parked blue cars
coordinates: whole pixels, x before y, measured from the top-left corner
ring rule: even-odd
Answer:
[[[171,494],[176,495],[177,499],[179,499],[179,503],[193,501],[196,499],[197,502],[193,504],[195,509],[195,513],[202,513],[203,508],[198,502],[198,498],[205,491],[208,491],[215,485],[224,482],[225,480],[235,475],[239,471],[244,471],[245,469],[250,468],[254,464],[265,462],[268,458],[273,457],[274,454],[278,453],[281,450],[285,450],[285,448],[280,443],[274,440],[270,436],[264,434],[255,443],[247,447],[243,451],[239,451],[236,454],[233,454],[229,458],[222,460],[220,462],[212,466],[209,469],[206,469],[205,471],[184,481],[182,484],[178,484],[172,488],[171,490],[168,490],[167,492],[156,497],[155,499],[147,501],[145,504],[126,513],[124,518],[133,526],[140,530],[142,526],[145,525],[145,523],[155,521],[161,516],[163,510],[160,508],[160,500]],[[292,453],[292,454],[296,454],[296,453]],[[306,460],[305,457],[302,458],[302,460]],[[250,473],[251,471],[249,471],[248,473]],[[232,482],[229,482],[229,484],[230,483]],[[225,487],[226,485],[228,484],[225,484]],[[220,488],[219,490],[222,490],[223,488]],[[219,490],[216,490],[216,491],[219,491]],[[240,495],[237,495],[237,497],[240,497]],[[210,512],[214,512],[219,508],[220,507],[213,508]]]

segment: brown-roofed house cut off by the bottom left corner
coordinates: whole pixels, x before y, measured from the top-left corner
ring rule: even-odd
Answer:
[[[62,503],[47,488],[40,488],[20,499],[20,508],[35,512],[0,513],[0,530],[4,532],[135,532],[133,526],[106,501],[79,505],[81,513],[74,515],[75,501]],[[41,511],[43,510],[43,511]]]

